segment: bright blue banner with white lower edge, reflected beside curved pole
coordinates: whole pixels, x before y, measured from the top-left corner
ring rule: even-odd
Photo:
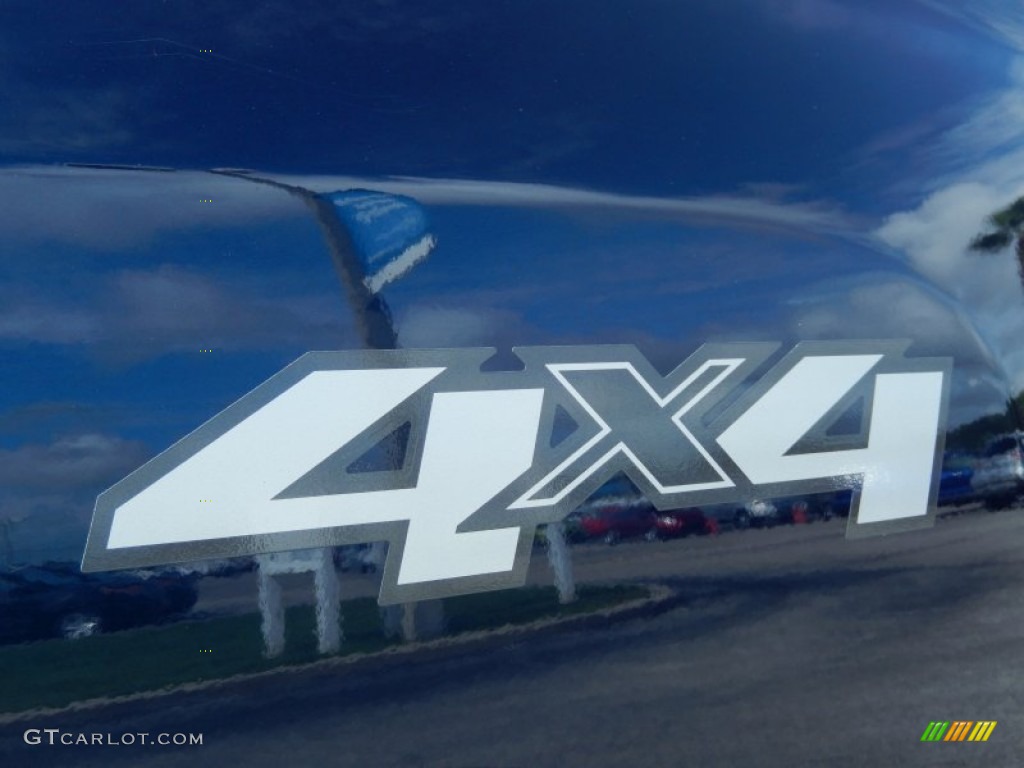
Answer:
[[[377,293],[400,278],[433,250],[427,215],[412,198],[350,189],[321,196],[334,204],[366,272],[367,288]]]

